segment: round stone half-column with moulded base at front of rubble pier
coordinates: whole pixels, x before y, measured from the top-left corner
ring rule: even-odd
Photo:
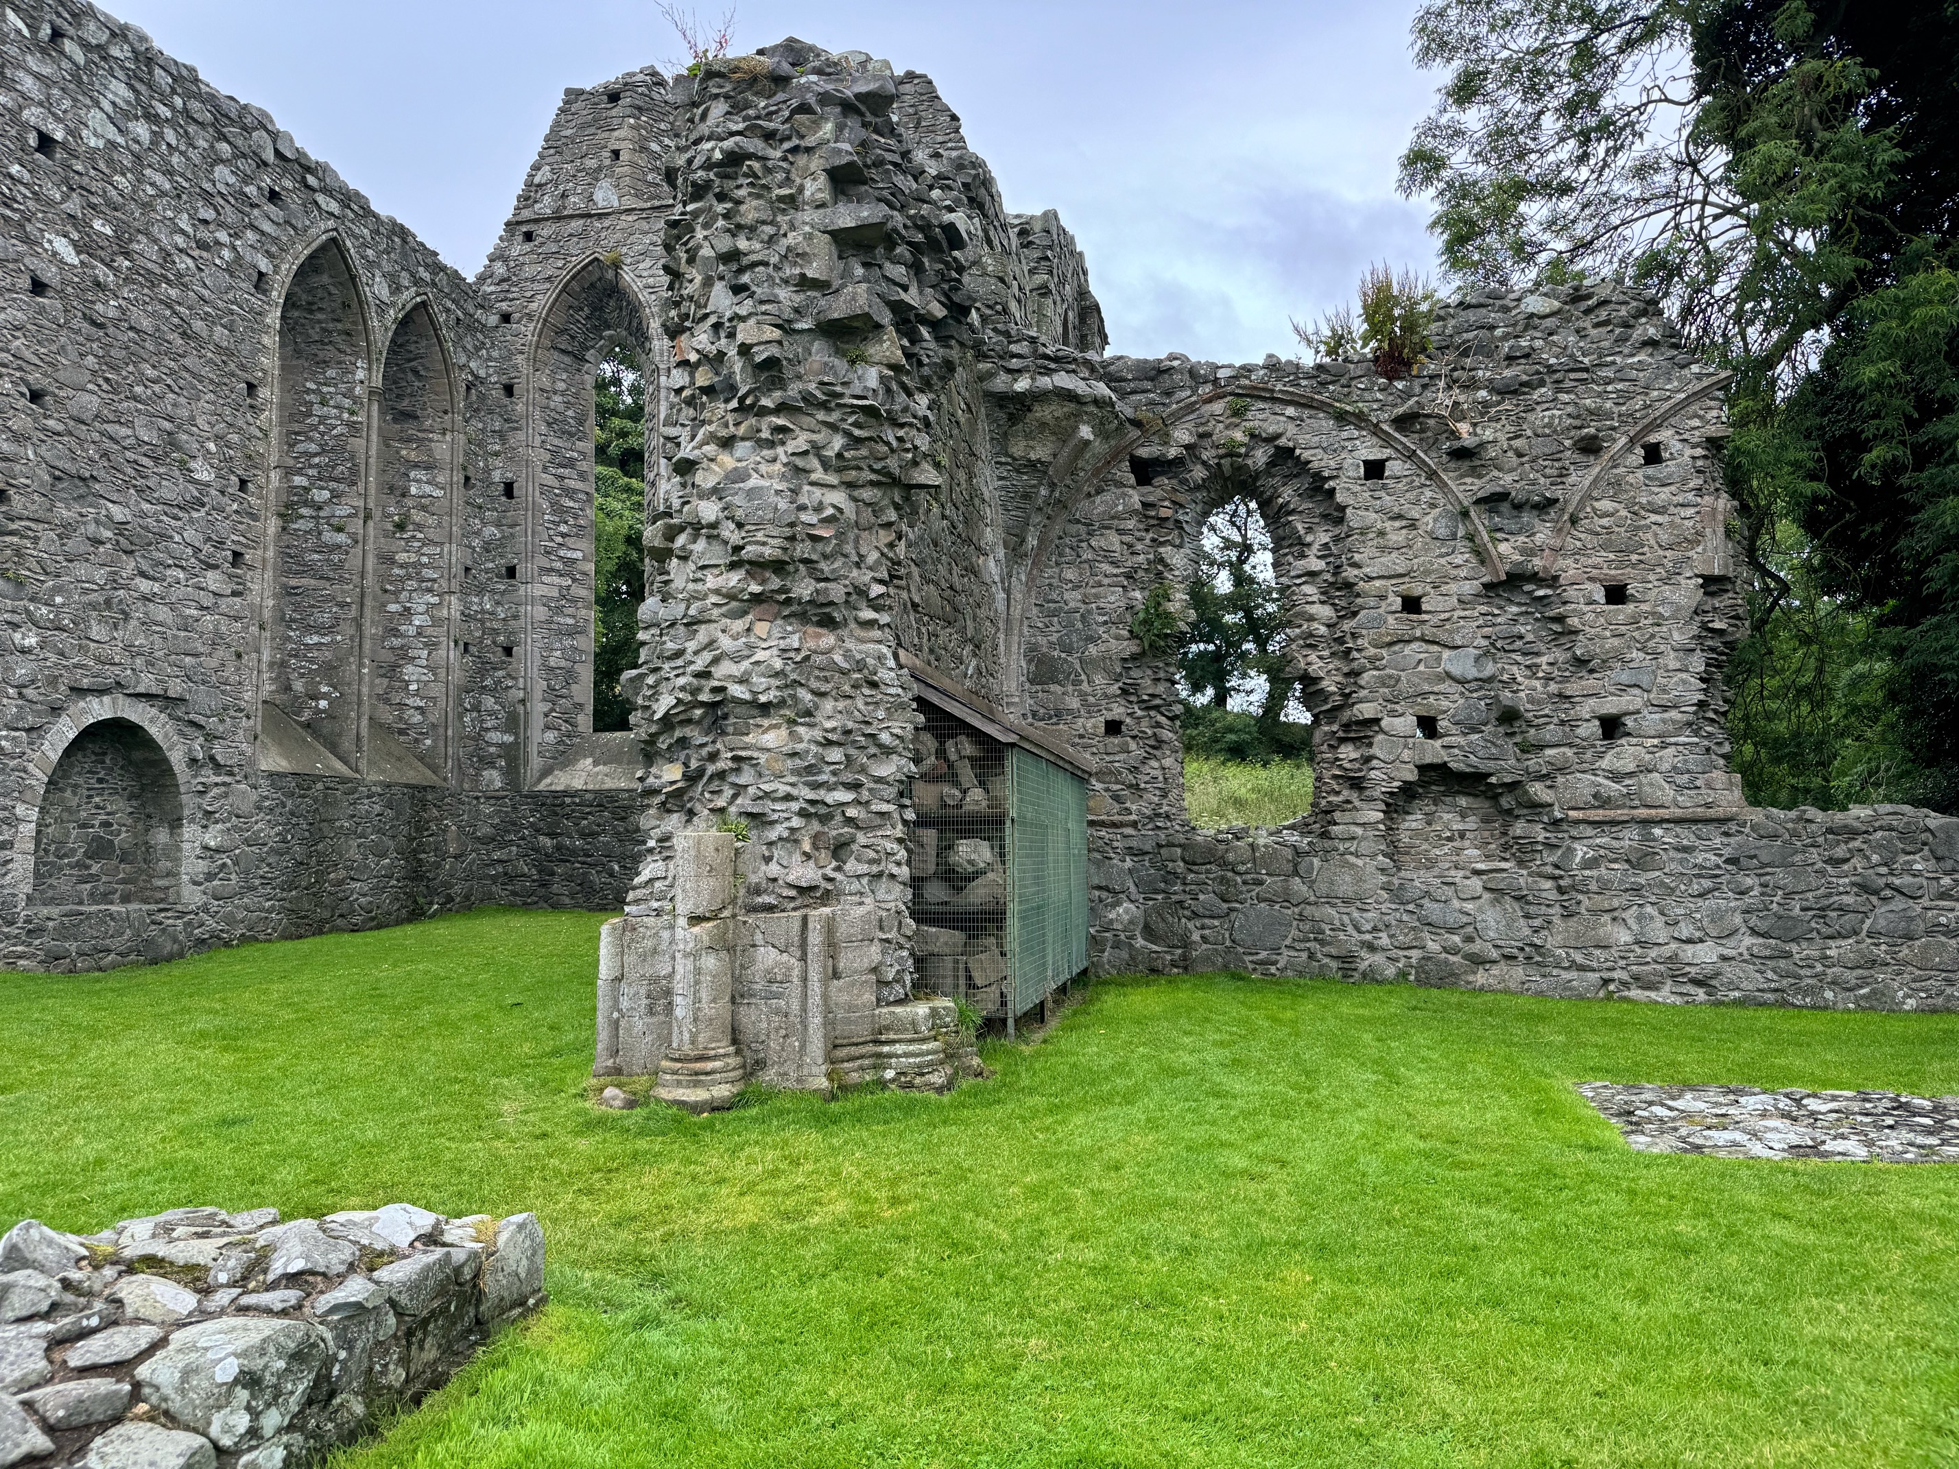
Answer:
[[[748,1075],[735,1046],[735,836],[682,832],[674,866],[674,1036],[654,1095],[707,1113]]]

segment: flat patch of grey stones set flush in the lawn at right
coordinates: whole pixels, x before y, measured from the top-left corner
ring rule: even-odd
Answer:
[[[1610,1081],[1579,1091],[1644,1154],[1959,1163],[1959,1097]]]

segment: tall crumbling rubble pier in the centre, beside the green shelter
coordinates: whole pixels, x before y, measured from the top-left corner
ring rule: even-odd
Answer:
[[[823,1056],[862,1066],[874,1007],[905,999],[911,973],[899,650],[981,693],[1005,684],[1013,511],[985,384],[1030,337],[1028,280],[929,80],[784,41],[707,63],[678,104],[641,695],[662,764],[599,1064],[662,1062],[690,973],[672,926],[682,836],[741,823],[741,921],[776,936],[742,950],[735,1044],[803,1085],[807,1058],[784,1060],[807,1050],[786,1042],[809,1034],[797,1007],[835,1024],[813,1042],[819,1073]],[[833,989],[807,999],[817,962],[784,956],[815,940],[788,934],[833,917]]]

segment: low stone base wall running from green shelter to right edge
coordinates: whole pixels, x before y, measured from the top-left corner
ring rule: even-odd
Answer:
[[[1916,807],[1154,834],[1101,827],[1095,968],[1959,1007],[1959,819]]]

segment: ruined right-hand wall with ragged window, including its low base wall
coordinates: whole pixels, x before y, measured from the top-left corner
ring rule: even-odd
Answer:
[[[1718,380],[1618,290],[1471,298],[1436,337],[1446,372],[1403,384],[1362,362],[1107,364],[1152,427],[1079,488],[1027,639],[1030,713],[1103,762],[1097,964],[1951,1007],[1959,823],[1744,811],[1726,770]],[[1170,834],[1171,668],[1128,619],[1236,492],[1273,531],[1316,805],[1275,832]]]

